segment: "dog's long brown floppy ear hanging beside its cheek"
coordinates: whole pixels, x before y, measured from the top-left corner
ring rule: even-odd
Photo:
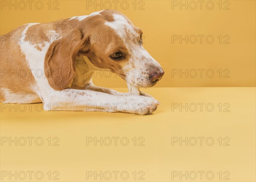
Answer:
[[[86,44],[87,37],[80,29],[74,29],[49,46],[44,71],[52,88],[62,90],[73,80],[76,56]]]

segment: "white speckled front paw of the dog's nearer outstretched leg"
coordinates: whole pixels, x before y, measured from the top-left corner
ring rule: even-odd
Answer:
[[[145,96],[131,96],[129,112],[133,114],[151,114],[160,105],[156,99]]]

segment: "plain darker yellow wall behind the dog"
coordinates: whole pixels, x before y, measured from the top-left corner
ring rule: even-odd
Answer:
[[[94,6],[86,6],[87,1],[83,0],[60,0],[57,6],[59,10],[52,10],[53,6],[57,5],[53,1],[51,10],[48,9],[48,1],[43,2],[44,7],[41,10],[35,9],[35,3],[32,4],[32,10],[29,10],[28,5],[24,10],[18,8],[15,10],[15,7],[9,10],[8,6],[4,6],[0,13],[0,34],[6,34],[25,23],[55,21],[101,10],[100,6],[96,6],[96,9]],[[182,9],[179,6],[172,6],[171,0],[141,1],[144,5],[137,1],[135,10],[133,0],[127,1],[129,6],[126,10],[121,8],[120,2],[117,4],[117,10],[127,15],[135,26],[143,30],[144,47],[165,71],[163,79],[156,87],[255,86],[255,0],[231,0],[228,1],[229,6],[222,1],[221,10],[218,0],[212,1],[214,2],[212,10],[207,9],[207,7],[211,8],[210,4],[206,6],[207,1],[203,3],[202,10],[199,3],[197,3],[197,9],[189,9],[189,7],[193,8],[190,1],[187,1],[188,10],[185,6],[182,6]],[[180,1],[177,2],[180,3]],[[20,6],[23,7],[21,4]],[[140,6],[144,10],[139,10]],[[108,8],[108,4],[104,6],[102,1],[102,8],[104,7]],[[225,7],[229,10],[224,10]],[[125,8],[124,4],[123,8]],[[184,41],[180,44],[178,40],[172,43],[172,35],[182,35],[182,37],[212,35],[215,40],[209,44],[204,37],[201,44],[198,37],[195,44],[186,44]],[[217,38],[219,35],[222,36],[221,44]],[[230,37],[228,40],[230,44],[223,44],[224,35]],[[188,71],[212,69],[214,76],[209,78],[204,71],[200,78],[198,71],[195,78],[186,78],[184,74],[181,78],[178,74],[172,77],[173,69],[181,69],[183,72],[186,69]],[[221,78],[218,72],[220,69]],[[224,69],[229,70],[229,78],[223,77],[227,73]],[[126,87],[126,83],[119,77],[115,78],[114,75],[106,78],[98,74],[94,83],[105,87]]]

